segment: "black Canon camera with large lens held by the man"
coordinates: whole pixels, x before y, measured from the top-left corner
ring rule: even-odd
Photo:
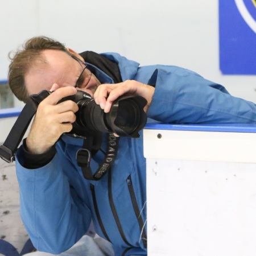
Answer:
[[[31,96],[32,100],[39,104],[51,92],[43,90],[39,94]],[[71,133],[80,135],[81,129],[86,131],[100,131],[102,133],[115,133],[119,136],[138,138],[138,131],[147,122],[147,116],[143,108],[147,101],[141,96],[122,96],[112,104],[109,113],[96,104],[90,94],[77,90],[77,93],[63,98],[58,103],[72,100],[79,106],[76,112],[76,121],[73,123]]]

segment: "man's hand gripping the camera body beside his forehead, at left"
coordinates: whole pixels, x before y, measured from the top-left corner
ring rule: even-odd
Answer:
[[[51,148],[61,134],[72,130],[72,123],[76,120],[75,113],[79,109],[73,101],[57,104],[61,98],[71,96],[77,92],[73,87],[52,86],[51,93],[38,105],[38,110],[27,137],[27,148],[32,154],[43,154]]]

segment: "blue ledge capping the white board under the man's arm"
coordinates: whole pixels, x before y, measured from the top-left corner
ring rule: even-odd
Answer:
[[[147,123],[144,129],[180,130],[180,131],[223,131],[231,133],[256,133],[256,124],[250,123],[214,123],[197,125],[170,125],[166,123]]]

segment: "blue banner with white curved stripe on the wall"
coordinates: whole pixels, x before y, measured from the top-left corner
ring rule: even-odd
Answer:
[[[256,75],[256,0],[219,0],[220,69]]]

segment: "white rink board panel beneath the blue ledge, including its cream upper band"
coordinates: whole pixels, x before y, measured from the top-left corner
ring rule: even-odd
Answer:
[[[223,138],[220,135],[222,141],[225,135],[229,139],[238,135],[234,136],[229,151],[228,143],[222,144],[219,150],[221,145],[216,143],[216,133],[210,143],[212,132],[195,132],[191,140],[196,138],[197,143],[192,147],[188,139],[191,131],[179,132],[184,136],[177,137],[173,130],[144,130],[148,256],[255,256],[255,134],[220,132],[224,135]],[[156,137],[159,133],[161,139]],[[208,136],[205,133],[209,133]],[[245,136],[245,141],[241,136]],[[251,147],[243,147],[248,141]],[[187,144],[185,157],[177,156],[177,153],[183,155],[180,144]],[[237,150],[234,144],[238,145]],[[209,154],[216,154],[212,160],[199,160],[196,152],[203,151],[198,147],[210,148]],[[189,150],[190,158],[197,156],[196,160],[186,159]],[[220,151],[222,154],[226,151],[227,161],[218,153]],[[234,155],[240,154],[244,157],[239,156],[232,162]],[[207,154],[203,154],[203,158],[204,155]],[[219,156],[221,161],[217,160]]]

